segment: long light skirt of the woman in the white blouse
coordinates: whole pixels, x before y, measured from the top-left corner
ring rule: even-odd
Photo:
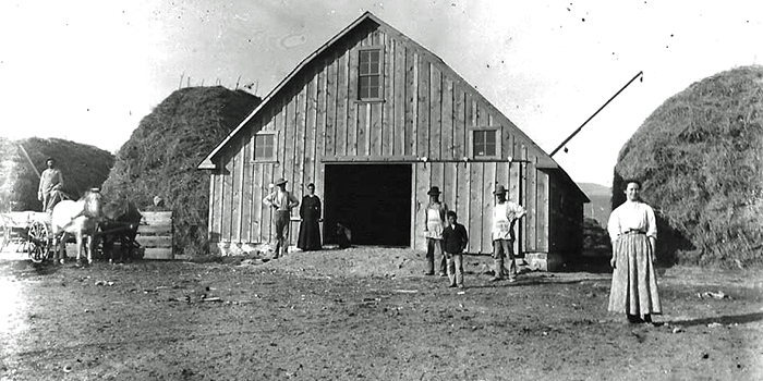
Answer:
[[[608,310],[634,316],[662,314],[649,237],[643,233],[622,234],[613,250],[616,259]]]

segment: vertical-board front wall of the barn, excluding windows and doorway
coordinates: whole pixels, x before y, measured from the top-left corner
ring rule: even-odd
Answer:
[[[359,50],[367,47],[383,48],[384,101],[355,100]],[[498,183],[530,210],[520,226],[522,249],[548,250],[550,185],[538,170],[548,165],[547,155],[438,58],[393,29],[367,23],[313,63],[217,156],[210,183],[214,242],[271,241],[270,211],[262,207],[268,183],[283,176],[301,198],[308,183],[324,189],[324,161],[356,160],[414,165],[412,247],[424,247],[422,208],[426,190],[437,185],[470,230],[470,251],[489,253],[492,192]],[[499,131],[495,159],[471,160],[471,134],[481,127]],[[276,161],[252,159],[261,131],[277,134]]]

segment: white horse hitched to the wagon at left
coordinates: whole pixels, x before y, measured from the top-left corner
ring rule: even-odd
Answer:
[[[76,261],[80,262],[83,241],[87,239],[87,262],[93,263],[93,235],[101,218],[101,195],[97,188],[85,193],[77,201],[63,200],[56,204],[51,217],[55,259],[63,262],[66,256],[66,237],[74,235]],[[59,246],[60,245],[60,246]]]

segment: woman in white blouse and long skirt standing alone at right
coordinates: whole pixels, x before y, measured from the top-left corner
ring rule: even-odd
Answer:
[[[652,323],[662,314],[654,271],[657,223],[652,207],[641,201],[641,182],[626,182],[627,200],[609,216],[614,268],[609,311],[626,314],[632,323]]]

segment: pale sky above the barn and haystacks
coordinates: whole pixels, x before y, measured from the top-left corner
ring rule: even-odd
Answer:
[[[550,153],[611,185],[644,120],[692,83],[762,64],[763,3],[674,0],[0,2],[0,136],[116,152],[187,86],[265,97],[365,11],[441,58]],[[251,89],[250,89],[251,88]]]

